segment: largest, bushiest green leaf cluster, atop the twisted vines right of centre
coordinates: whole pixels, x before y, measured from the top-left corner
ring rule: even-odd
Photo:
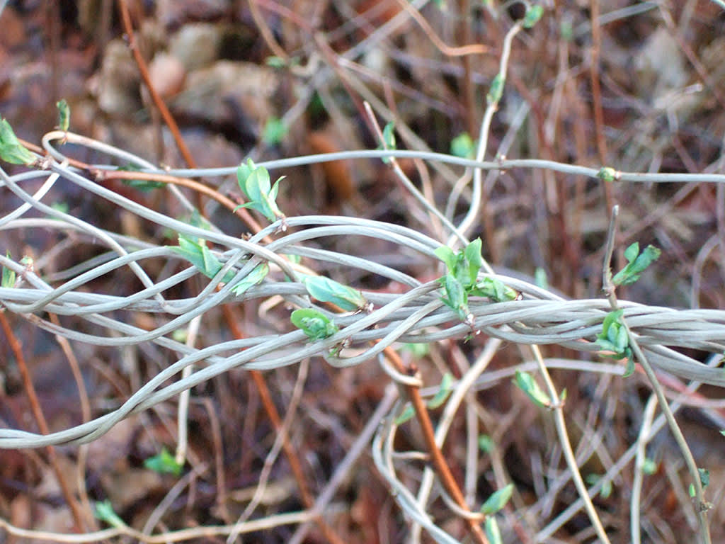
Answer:
[[[494,302],[514,300],[518,297],[517,292],[499,279],[486,277],[479,281],[479,271],[484,264],[480,238],[476,238],[457,253],[448,246],[441,246],[434,253],[448,269],[448,273],[438,280],[443,289],[441,300],[452,308],[462,321],[468,318],[469,296],[488,297]]]

